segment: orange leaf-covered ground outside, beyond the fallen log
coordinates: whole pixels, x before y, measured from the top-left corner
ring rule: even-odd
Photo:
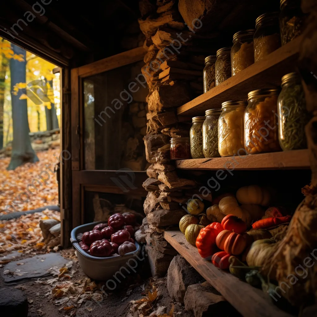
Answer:
[[[39,162],[7,171],[10,158],[0,159],[0,215],[58,204],[54,167],[60,150],[38,152]],[[32,185],[34,184],[34,185]],[[9,206],[9,207],[8,207]]]

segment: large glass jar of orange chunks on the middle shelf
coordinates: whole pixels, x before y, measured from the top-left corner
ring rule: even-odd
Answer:
[[[280,151],[277,97],[280,89],[249,92],[244,113],[244,146],[248,154]]]

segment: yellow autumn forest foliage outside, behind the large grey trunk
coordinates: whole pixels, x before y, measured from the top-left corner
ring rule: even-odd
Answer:
[[[0,150],[13,140],[12,94],[19,95],[19,100],[27,101],[30,132],[60,126],[60,74],[53,74],[54,64],[23,51],[0,37]],[[12,66],[14,70],[25,67],[24,82],[11,83]]]

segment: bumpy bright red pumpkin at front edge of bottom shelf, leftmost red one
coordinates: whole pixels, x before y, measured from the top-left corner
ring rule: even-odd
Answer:
[[[196,239],[198,253],[203,258],[211,257],[216,251],[217,230],[214,228],[203,228]]]

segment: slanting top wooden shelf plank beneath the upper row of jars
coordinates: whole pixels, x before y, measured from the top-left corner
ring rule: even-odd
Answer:
[[[204,115],[205,110],[220,108],[225,101],[246,100],[248,93],[252,90],[280,86],[282,76],[295,71],[301,39],[300,36],[283,45],[263,60],[178,107],[177,114],[192,117]]]

